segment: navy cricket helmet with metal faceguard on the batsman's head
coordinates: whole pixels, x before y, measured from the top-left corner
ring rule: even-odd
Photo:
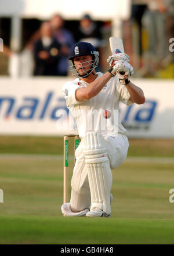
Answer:
[[[76,68],[74,65],[74,58],[78,56],[84,56],[84,55],[91,55],[92,60],[81,63],[81,67],[79,68],[82,68],[82,71],[84,71],[85,74],[80,75],[78,73],[79,68]],[[72,75],[74,75],[75,77],[88,77],[88,75],[92,73],[93,70],[95,70],[95,68],[99,64],[99,52],[96,51],[96,49],[92,46],[92,44],[89,44],[88,42],[79,42],[71,48],[70,57],[68,59],[73,62],[73,65],[70,66],[70,73]],[[84,63],[85,63],[84,67],[89,66],[89,69],[86,71],[84,70],[84,67],[82,65]]]

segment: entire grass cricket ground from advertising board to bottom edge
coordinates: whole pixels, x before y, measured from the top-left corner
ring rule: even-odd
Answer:
[[[19,145],[17,138],[6,137],[6,144],[1,139],[0,244],[174,243],[174,203],[169,203],[174,160],[167,153],[173,150],[169,141],[152,140],[155,150],[150,140],[139,140],[139,146],[137,140],[130,142],[131,156],[113,170],[112,218],[64,218],[63,156],[55,154],[61,152],[56,142],[62,139],[25,137],[18,138]],[[139,157],[133,153],[136,143],[142,149]]]

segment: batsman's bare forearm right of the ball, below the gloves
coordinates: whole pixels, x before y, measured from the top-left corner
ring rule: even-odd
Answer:
[[[143,90],[141,88],[139,88],[138,86],[136,86],[132,82],[129,82],[129,84],[125,85],[125,86],[126,86],[126,89],[129,92],[129,94],[131,95],[130,100],[132,102],[135,102],[137,104],[143,104],[145,102],[146,99],[144,97],[144,93],[143,93]]]

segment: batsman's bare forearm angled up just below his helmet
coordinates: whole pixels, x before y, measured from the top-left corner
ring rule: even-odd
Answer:
[[[107,72],[102,75],[102,77],[97,78],[95,81],[91,82],[86,86],[86,95],[88,99],[95,97],[100,91],[102,91],[104,85],[111,79],[111,74]]]

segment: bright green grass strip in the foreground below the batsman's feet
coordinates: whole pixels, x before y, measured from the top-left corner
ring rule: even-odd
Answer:
[[[4,244],[173,244],[174,241],[174,222],[166,219],[1,215],[1,221],[0,237]]]

